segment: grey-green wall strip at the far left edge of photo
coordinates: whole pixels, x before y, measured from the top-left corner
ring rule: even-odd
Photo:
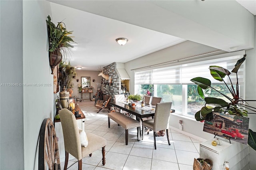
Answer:
[[[24,169],[22,1],[0,1],[0,169]],[[32,159],[34,159],[32,157]]]

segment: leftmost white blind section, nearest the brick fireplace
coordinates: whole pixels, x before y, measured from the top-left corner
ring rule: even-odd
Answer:
[[[134,72],[134,84],[152,84],[152,70]]]

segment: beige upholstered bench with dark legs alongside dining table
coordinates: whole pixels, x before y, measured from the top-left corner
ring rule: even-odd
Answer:
[[[110,128],[110,119],[125,128],[125,144],[128,145],[128,129],[136,127],[139,130],[140,122],[120,112],[110,112],[108,113],[108,128]]]

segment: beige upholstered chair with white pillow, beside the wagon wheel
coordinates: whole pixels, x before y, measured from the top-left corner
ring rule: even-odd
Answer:
[[[87,155],[92,156],[92,152],[99,148],[102,148],[102,164],[105,165],[106,140],[95,134],[87,133],[88,145],[86,147],[81,146],[80,134],[75,115],[68,109],[61,109],[59,113],[65,147],[64,170],[66,170],[68,166],[69,153],[77,159],[78,170],[82,170],[82,158]]]

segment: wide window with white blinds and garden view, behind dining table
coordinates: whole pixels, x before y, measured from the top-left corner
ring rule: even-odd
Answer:
[[[150,91],[152,96],[162,97],[162,102],[172,102],[172,109],[176,113],[194,117],[195,113],[205,105],[204,100],[198,95],[197,85],[190,79],[194,77],[204,77],[212,81],[212,85],[218,91],[232,98],[232,95],[223,82],[212,78],[209,71],[210,65],[218,65],[228,70],[232,70],[236,61],[242,58],[242,52],[239,55],[205,59],[204,61],[190,61],[180,65],[168,67],[134,71],[135,93],[146,95]],[[229,54],[230,55],[230,54]],[[236,82],[236,74],[230,75],[231,81]],[[240,96],[244,96],[244,64],[238,72],[240,83]],[[230,84],[227,76],[226,83]],[[220,93],[212,90],[209,97],[222,97]],[[222,98],[226,100],[225,98]]]

